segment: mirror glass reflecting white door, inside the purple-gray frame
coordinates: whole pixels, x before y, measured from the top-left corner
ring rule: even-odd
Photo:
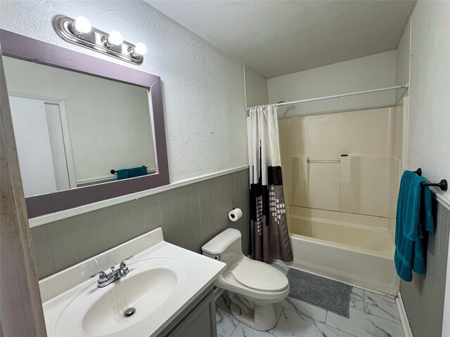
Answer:
[[[4,56],[25,197],[155,173],[148,88]]]

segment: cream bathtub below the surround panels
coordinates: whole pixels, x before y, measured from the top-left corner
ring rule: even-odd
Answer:
[[[307,272],[396,295],[392,221],[290,206],[293,263]]]

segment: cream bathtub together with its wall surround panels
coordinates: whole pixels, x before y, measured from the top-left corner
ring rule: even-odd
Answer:
[[[403,108],[278,123],[293,265],[395,295]]]

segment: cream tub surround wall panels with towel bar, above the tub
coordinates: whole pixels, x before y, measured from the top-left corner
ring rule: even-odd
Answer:
[[[281,119],[290,206],[395,218],[402,107]]]

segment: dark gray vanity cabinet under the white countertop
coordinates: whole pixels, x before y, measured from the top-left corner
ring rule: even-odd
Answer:
[[[209,286],[158,337],[215,337],[216,305]]]

